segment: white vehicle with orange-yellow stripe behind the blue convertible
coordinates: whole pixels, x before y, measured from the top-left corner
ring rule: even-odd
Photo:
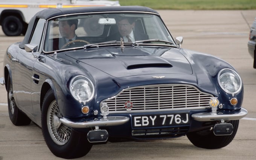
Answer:
[[[0,0],[0,25],[6,36],[25,34],[27,25],[40,10],[82,6],[120,6],[110,0]]]

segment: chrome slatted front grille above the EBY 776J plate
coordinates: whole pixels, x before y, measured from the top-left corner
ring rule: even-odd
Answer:
[[[203,93],[192,85],[164,84],[126,88],[119,94],[103,100],[110,113],[126,113],[151,110],[209,108],[211,94]],[[125,103],[132,104],[131,110]]]

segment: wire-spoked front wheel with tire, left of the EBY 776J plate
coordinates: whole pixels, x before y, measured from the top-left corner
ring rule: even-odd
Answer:
[[[58,121],[62,115],[52,90],[47,91],[42,107],[42,131],[50,151],[65,159],[85,156],[92,145],[87,141],[85,133],[76,132]]]

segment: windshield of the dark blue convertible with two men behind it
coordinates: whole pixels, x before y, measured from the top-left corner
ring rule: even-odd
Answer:
[[[162,19],[149,13],[108,13],[50,19],[44,51],[81,48],[88,44],[175,44]],[[115,43],[117,44],[117,43]],[[91,45],[89,45],[91,46]]]

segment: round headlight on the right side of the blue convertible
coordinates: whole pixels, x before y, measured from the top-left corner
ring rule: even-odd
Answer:
[[[242,88],[242,79],[232,69],[222,69],[218,73],[218,82],[222,90],[229,94],[236,94]]]

